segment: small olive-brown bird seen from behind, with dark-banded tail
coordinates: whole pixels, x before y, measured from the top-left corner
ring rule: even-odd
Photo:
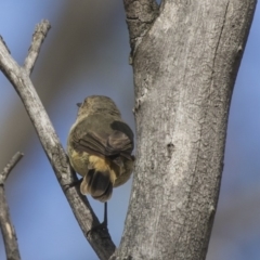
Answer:
[[[68,157],[83,177],[80,192],[105,203],[106,222],[106,202],[113,187],[126,183],[132,173],[133,132],[107,96],[88,96],[78,106],[67,140]]]

